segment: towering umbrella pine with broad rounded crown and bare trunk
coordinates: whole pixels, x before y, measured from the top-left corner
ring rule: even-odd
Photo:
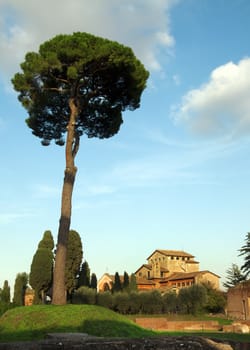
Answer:
[[[26,120],[48,146],[65,143],[65,173],[53,281],[53,304],[66,303],[65,265],[80,137],[109,138],[122,112],[140,106],[148,72],[132,50],[87,33],[57,35],[27,53],[12,79]]]

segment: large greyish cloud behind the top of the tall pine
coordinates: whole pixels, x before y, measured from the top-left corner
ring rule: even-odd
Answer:
[[[174,45],[169,10],[177,0],[1,0],[0,67],[9,79],[27,51],[56,34],[86,31],[131,46],[149,69]]]

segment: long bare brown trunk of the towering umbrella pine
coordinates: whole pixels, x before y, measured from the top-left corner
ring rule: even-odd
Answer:
[[[67,293],[65,288],[65,265],[67,254],[68,235],[71,221],[72,193],[75,182],[77,168],[75,167],[74,158],[78,150],[79,139],[75,135],[75,123],[77,118],[77,107],[73,98],[69,101],[71,109],[70,120],[65,147],[66,169],[64,173],[62,200],[61,200],[61,217],[59,221],[56,258],[53,276],[53,296],[52,304],[64,305],[67,302]]]

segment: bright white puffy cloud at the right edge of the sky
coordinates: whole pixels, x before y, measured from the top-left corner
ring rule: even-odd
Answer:
[[[212,71],[209,81],[172,107],[176,122],[200,134],[238,137],[250,131],[250,58]]]

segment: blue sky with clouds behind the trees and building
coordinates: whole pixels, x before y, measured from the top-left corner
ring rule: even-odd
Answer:
[[[49,9],[49,10],[48,10]],[[248,0],[0,0],[0,287],[56,241],[64,149],[42,147],[10,79],[28,51],[85,31],[131,46],[150,71],[111,139],[82,137],[72,229],[91,272],[132,273],[184,250],[225,279],[249,231]]]

